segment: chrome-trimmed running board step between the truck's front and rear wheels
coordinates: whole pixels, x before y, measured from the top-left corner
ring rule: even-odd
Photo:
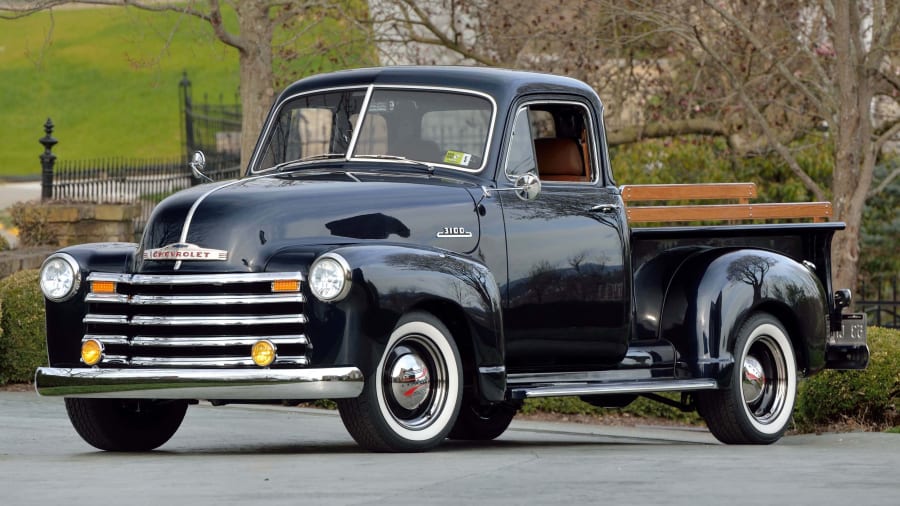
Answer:
[[[712,379],[615,381],[606,383],[555,383],[510,390],[513,399],[532,397],[567,397],[576,395],[646,394],[651,392],[685,392],[689,390],[714,390],[718,383]]]

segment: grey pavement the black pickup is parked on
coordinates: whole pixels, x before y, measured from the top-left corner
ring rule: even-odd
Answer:
[[[900,435],[721,445],[703,429],[514,421],[497,441],[361,450],[334,412],[191,406],[159,450],[105,453],[61,399],[0,392],[0,503],[201,505],[890,504]]]

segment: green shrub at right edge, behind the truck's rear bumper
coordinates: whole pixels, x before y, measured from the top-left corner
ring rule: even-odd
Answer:
[[[869,366],[823,371],[800,387],[794,423],[811,431],[831,424],[886,428],[900,423],[900,331],[869,327]]]

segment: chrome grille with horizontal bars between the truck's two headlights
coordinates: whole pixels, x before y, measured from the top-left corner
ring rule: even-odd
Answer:
[[[273,293],[276,280],[303,282],[299,272],[254,274],[88,276],[84,340],[103,345],[101,366],[257,367],[250,349],[268,340],[278,350],[271,367],[309,363],[305,299]],[[115,293],[91,293],[93,282]]]

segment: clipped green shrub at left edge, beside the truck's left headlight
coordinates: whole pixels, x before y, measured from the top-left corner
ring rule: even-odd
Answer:
[[[39,271],[20,271],[0,281],[0,384],[30,382],[47,363],[44,297]]]

